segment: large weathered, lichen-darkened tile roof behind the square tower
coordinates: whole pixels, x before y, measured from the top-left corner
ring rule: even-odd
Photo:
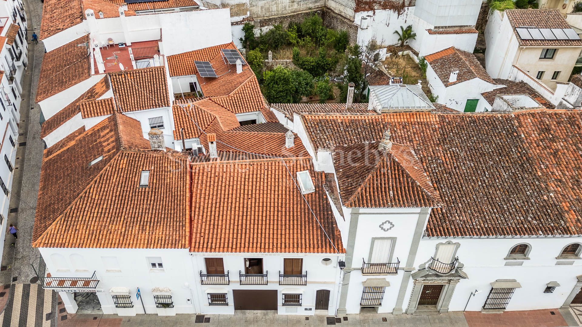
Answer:
[[[428,236],[582,234],[582,112],[303,116],[317,148],[379,140],[413,148],[443,201]],[[377,197],[381,197],[378,194]]]

